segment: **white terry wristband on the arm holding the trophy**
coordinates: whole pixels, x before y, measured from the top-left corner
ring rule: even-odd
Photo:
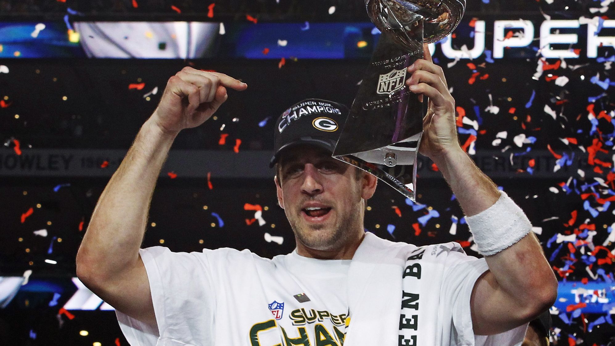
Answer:
[[[532,229],[530,219],[506,192],[499,191],[498,201],[486,210],[466,216],[478,252],[491,256],[509,248]]]

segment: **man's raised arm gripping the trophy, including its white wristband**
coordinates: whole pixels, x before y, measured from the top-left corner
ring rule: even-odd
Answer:
[[[500,195],[459,146],[455,101],[427,45],[424,51],[424,60],[408,68],[412,76],[407,81],[411,92],[429,96],[419,152],[442,171],[489,267],[475,283],[470,299],[474,333],[498,334],[548,309],[557,297],[557,279],[525,213]]]

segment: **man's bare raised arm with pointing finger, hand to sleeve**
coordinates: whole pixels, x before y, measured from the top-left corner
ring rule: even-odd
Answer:
[[[156,111],[100,195],[77,253],[77,277],[130,317],[156,326],[139,248],[156,180],[175,136],[203,124],[246,84],[221,73],[183,68],[170,77]]]

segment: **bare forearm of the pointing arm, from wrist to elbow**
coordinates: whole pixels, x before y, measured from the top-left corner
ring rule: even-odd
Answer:
[[[113,275],[137,261],[154,186],[174,139],[151,120],[143,124],[98,199],[77,253],[77,273]]]

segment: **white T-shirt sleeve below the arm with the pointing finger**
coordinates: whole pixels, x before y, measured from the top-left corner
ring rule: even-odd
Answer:
[[[148,274],[158,330],[116,310],[132,346],[213,344],[215,292],[207,254],[173,253],[153,246],[139,250]]]

